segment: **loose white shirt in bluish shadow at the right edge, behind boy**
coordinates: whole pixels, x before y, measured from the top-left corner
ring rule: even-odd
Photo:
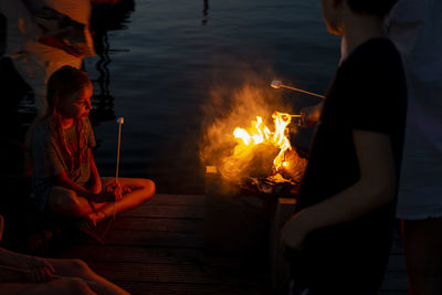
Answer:
[[[442,1],[400,0],[387,27],[408,83],[397,217],[442,218]]]

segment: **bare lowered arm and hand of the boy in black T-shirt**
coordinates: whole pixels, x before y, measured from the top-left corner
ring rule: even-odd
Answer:
[[[355,220],[393,200],[397,179],[390,137],[359,129],[352,135],[360,179],[340,193],[293,215],[282,230],[282,241],[287,246],[301,249],[307,233]]]

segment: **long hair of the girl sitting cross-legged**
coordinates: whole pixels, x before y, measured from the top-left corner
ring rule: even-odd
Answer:
[[[66,143],[65,133],[62,128],[61,106],[64,99],[74,95],[76,92],[91,86],[91,80],[87,74],[70,65],[55,71],[48,81],[48,112],[45,117],[52,116],[50,122],[50,130],[59,143],[62,152],[65,154],[67,164],[67,172],[80,167],[80,164],[86,159],[87,155],[87,138],[83,128],[83,120],[75,119],[75,131],[77,134],[77,152],[73,152]]]

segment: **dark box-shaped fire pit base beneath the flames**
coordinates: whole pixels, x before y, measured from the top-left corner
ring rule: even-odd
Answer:
[[[283,188],[282,192],[263,192],[259,189],[263,183],[273,191]],[[292,192],[297,187],[263,183],[231,183],[217,167],[207,167],[203,250],[256,267],[270,266],[273,294],[285,294],[290,266],[283,256],[280,231],[294,213],[296,193]]]

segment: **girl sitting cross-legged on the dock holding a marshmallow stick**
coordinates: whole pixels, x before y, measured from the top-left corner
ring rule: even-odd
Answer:
[[[48,82],[49,110],[31,140],[32,187],[42,211],[80,219],[81,229],[140,206],[155,194],[149,179],[101,178],[92,148],[88,114],[92,83],[86,73],[63,66]]]

